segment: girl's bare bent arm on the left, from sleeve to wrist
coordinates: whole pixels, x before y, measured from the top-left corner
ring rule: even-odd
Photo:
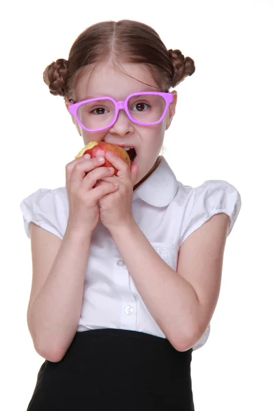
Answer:
[[[31,240],[33,277],[27,324],[38,354],[58,362],[79,323],[90,232],[75,232],[68,223],[60,240],[31,223]]]

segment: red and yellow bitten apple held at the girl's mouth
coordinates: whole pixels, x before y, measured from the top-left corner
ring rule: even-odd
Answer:
[[[131,168],[131,162],[130,162],[129,155],[127,154],[127,151],[125,151],[125,149],[123,149],[123,147],[119,147],[117,145],[110,144],[110,142],[90,141],[90,142],[88,142],[87,145],[85,145],[84,149],[79,151],[79,153],[76,155],[75,158],[82,157],[82,155],[84,155],[86,153],[90,154],[91,158],[95,158],[95,157],[98,157],[99,155],[101,155],[101,153],[99,153],[99,151],[104,151],[104,153],[106,153],[107,151],[112,151],[112,153],[118,155],[118,157],[120,157],[123,161],[125,161],[127,163],[127,165],[129,166],[129,169]],[[118,170],[106,158],[105,158],[105,162],[103,163],[103,166],[113,167],[114,168],[114,175],[117,175]]]

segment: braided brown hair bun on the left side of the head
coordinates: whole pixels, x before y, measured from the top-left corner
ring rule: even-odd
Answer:
[[[65,95],[65,83],[68,73],[68,62],[59,58],[47,66],[43,73],[44,82],[49,86],[49,92],[53,96]]]

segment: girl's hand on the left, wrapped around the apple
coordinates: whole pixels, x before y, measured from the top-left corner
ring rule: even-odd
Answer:
[[[98,158],[76,158],[66,164],[66,191],[69,197],[68,227],[77,232],[92,234],[99,221],[98,200],[114,192],[118,187],[104,184],[95,187],[97,180],[114,174],[108,167],[102,167]]]

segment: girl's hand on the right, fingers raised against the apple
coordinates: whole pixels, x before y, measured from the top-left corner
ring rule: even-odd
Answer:
[[[105,153],[105,158],[116,167],[118,170],[117,175],[100,179],[95,187],[102,184],[119,183],[116,191],[104,195],[98,201],[101,223],[111,231],[130,225],[134,221],[132,196],[136,184],[138,165],[134,164],[129,170],[127,163],[111,151]]]

